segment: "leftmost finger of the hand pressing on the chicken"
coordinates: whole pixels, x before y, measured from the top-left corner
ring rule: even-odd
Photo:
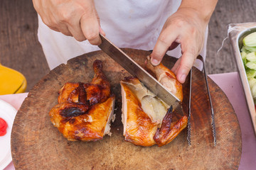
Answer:
[[[169,26],[169,28],[165,28],[159,35],[158,40],[156,41],[156,45],[154,46],[153,52],[151,54],[151,64],[158,65],[166,51],[169,47],[175,42],[178,37],[178,30],[174,29],[174,26]],[[177,44],[174,43],[173,46]]]

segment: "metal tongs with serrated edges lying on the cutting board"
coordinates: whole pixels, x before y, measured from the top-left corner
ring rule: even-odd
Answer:
[[[203,57],[201,55],[198,55],[197,57],[198,60],[201,60],[201,62],[203,62],[203,73],[204,73],[204,77],[205,77],[205,81],[206,81],[206,88],[208,91],[208,98],[209,98],[209,103],[210,103],[210,110],[211,110],[211,125],[213,128],[213,143],[214,143],[214,147],[217,145],[217,139],[216,139],[216,129],[215,129],[215,120],[214,120],[214,112],[213,112],[213,103],[211,101],[210,98],[210,90],[209,90],[209,86],[208,86],[208,80],[207,80],[207,74],[206,74],[206,69],[205,69],[205,64],[203,61]],[[189,99],[188,99],[188,136],[187,136],[187,140],[188,140],[188,145],[191,145],[191,90],[192,90],[192,69],[190,72],[190,77],[189,77],[190,81],[189,81]]]

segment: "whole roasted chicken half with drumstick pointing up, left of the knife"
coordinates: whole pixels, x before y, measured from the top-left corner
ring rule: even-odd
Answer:
[[[102,72],[102,62],[93,63],[90,83],[66,83],[59,91],[58,104],[50,110],[53,125],[68,140],[95,141],[110,134],[114,96]]]

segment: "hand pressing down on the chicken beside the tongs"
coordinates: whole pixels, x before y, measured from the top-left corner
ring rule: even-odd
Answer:
[[[183,83],[203,48],[207,25],[208,22],[195,9],[178,8],[164,23],[151,54],[151,63],[159,64],[167,50],[174,50],[181,44],[182,56],[171,70],[178,81]]]

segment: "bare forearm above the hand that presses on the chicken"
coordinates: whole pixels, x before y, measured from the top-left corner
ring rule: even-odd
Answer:
[[[198,16],[208,24],[217,2],[218,0],[182,0],[181,6],[179,6],[178,10],[186,8],[193,12],[196,11]]]

